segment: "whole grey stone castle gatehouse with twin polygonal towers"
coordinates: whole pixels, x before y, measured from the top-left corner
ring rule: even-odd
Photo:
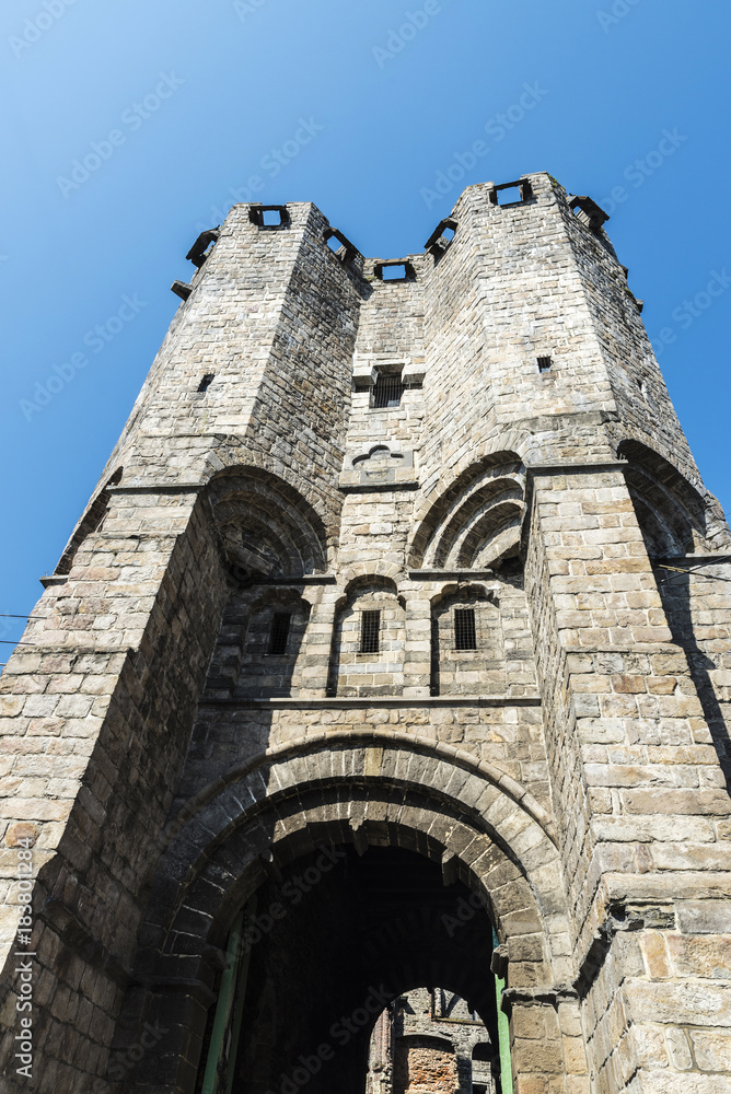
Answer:
[[[731,540],[605,220],[197,241],[1,678],[3,1091],[362,1094],[439,988],[496,1094],[729,1094]]]

